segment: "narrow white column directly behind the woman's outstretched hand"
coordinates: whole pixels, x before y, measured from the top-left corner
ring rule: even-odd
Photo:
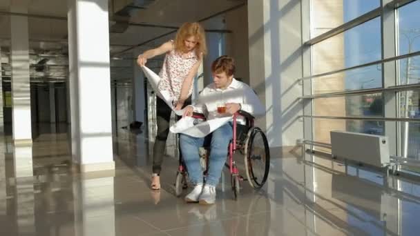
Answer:
[[[133,57],[137,58],[140,54],[140,50],[135,50],[133,52]],[[140,121],[144,124],[144,110],[146,109],[146,96],[144,95],[144,74],[139,66],[137,66],[137,61],[133,61],[133,70],[134,76],[133,81],[131,82],[133,88],[132,104],[133,104],[133,119],[134,121]]]

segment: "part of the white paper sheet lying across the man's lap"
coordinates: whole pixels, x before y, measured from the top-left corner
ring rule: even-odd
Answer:
[[[171,132],[183,133],[192,137],[206,137],[206,135],[209,135],[209,133],[213,132],[220,126],[227,124],[227,122],[232,121],[232,119],[233,117],[220,117],[195,124],[195,118],[183,117],[176,124],[171,126],[169,130],[171,130]]]

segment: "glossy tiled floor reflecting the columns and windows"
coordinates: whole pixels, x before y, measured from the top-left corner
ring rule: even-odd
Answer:
[[[216,204],[199,206],[173,195],[176,159],[165,159],[163,189],[152,193],[144,137],[116,140],[115,172],[79,175],[66,133],[39,134],[30,147],[2,137],[0,235],[419,235],[419,183],[351,166],[346,174],[297,149],[272,154],[262,190],[245,182],[234,201],[223,175]]]

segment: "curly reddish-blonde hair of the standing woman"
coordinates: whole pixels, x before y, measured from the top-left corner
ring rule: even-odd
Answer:
[[[187,22],[182,24],[175,36],[175,51],[187,52],[184,41],[191,36],[195,37],[195,40],[197,40],[194,49],[195,54],[200,55],[200,53],[202,53],[203,55],[207,55],[206,36],[204,35],[204,29],[198,22]]]

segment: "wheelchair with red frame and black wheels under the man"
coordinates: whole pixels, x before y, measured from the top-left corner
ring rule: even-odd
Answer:
[[[237,118],[244,117],[246,124],[238,124]],[[193,113],[193,118],[199,121],[205,121],[204,115]],[[243,110],[239,110],[233,115],[233,137],[229,143],[227,161],[225,167],[229,169],[231,175],[231,188],[234,199],[238,198],[242,181],[248,181],[254,189],[264,186],[269,175],[270,153],[267,137],[264,132],[254,126],[254,117]],[[200,163],[207,174],[209,161],[209,138],[204,139],[204,147],[200,150]],[[244,156],[246,178],[240,175],[236,161],[233,159],[235,153]],[[175,179],[175,195],[180,197],[182,190],[188,188],[188,171],[182,160],[182,154],[179,155],[179,166]]]

